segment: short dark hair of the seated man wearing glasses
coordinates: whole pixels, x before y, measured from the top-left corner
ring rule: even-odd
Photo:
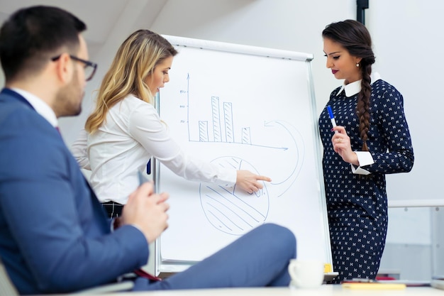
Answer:
[[[0,28],[0,62],[6,82],[38,72],[61,50],[77,53],[79,33],[87,26],[63,9],[31,6],[20,9]]]

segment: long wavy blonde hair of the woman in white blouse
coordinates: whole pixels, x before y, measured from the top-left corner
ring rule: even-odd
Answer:
[[[154,104],[154,97],[146,77],[165,58],[177,55],[177,50],[161,35],[149,30],[132,33],[118,48],[111,67],[102,80],[96,98],[96,107],[89,115],[85,130],[94,133],[106,120],[106,112],[133,94],[138,99]]]

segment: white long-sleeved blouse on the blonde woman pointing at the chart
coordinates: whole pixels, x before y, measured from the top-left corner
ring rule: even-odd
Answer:
[[[186,155],[154,106],[133,95],[111,107],[96,132],[81,131],[72,153],[82,168],[91,170],[89,181],[101,202],[126,204],[151,157],[187,180],[233,186],[237,177],[236,170]]]

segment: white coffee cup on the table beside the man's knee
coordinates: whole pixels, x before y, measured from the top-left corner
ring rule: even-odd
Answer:
[[[313,288],[323,283],[324,263],[314,260],[292,259],[288,265],[292,287]]]

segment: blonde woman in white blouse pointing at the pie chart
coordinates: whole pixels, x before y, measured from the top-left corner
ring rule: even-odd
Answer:
[[[101,82],[96,106],[72,146],[82,168],[110,217],[120,216],[128,195],[138,187],[138,172],[152,156],[175,174],[201,182],[237,185],[246,192],[262,189],[269,177],[248,170],[219,168],[186,155],[170,138],[153,106],[154,97],[170,80],[177,51],[148,30],[131,34],[120,46]]]

